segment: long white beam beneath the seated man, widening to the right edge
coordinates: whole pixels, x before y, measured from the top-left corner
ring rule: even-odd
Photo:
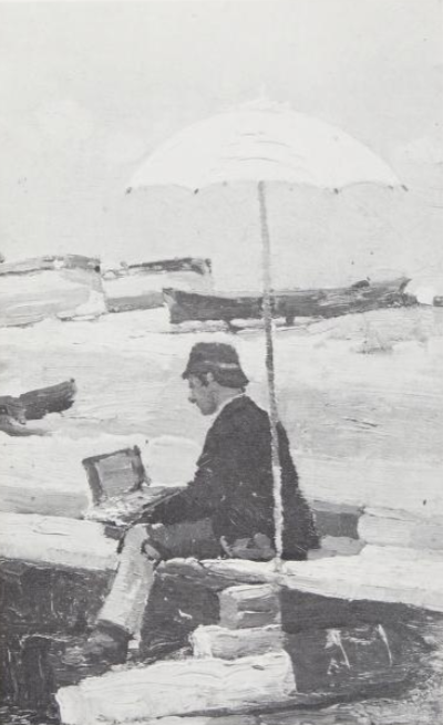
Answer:
[[[367,546],[356,557],[272,562],[239,559],[164,565],[169,573],[222,590],[233,583],[271,583],[348,600],[399,602],[443,612],[443,556],[440,551]]]

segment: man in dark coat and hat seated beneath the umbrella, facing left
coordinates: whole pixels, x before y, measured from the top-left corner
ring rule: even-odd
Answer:
[[[266,561],[275,556],[270,423],[245,394],[248,379],[236,350],[197,343],[183,377],[188,381],[189,402],[203,415],[216,414],[194,480],[127,531],[96,628],[84,648],[66,653],[71,664],[125,661],[159,560],[222,556]],[[278,436],[284,558],[306,559],[308,550],[318,547],[318,538],[280,424]]]

